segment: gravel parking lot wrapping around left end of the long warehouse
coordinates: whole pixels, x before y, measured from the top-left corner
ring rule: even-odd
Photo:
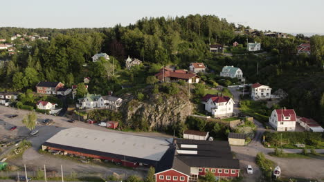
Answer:
[[[18,114],[15,118],[9,118],[10,114]],[[67,122],[66,117],[55,117],[46,114],[37,114],[37,125],[35,130],[39,130],[39,133],[35,136],[30,136],[29,130],[24,126],[21,120],[24,116],[28,114],[26,110],[17,110],[15,108],[7,108],[4,106],[0,106],[0,138],[2,136],[18,136],[21,139],[28,139],[31,141],[32,148],[26,150],[21,159],[12,159],[8,160],[9,163],[17,165],[17,166],[24,166],[26,164],[28,170],[37,170],[42,168],[44,164],[46,168],[60,171],[60,165],[63,165],[64,171],[66,172],[95,172],[95,173],[102,173],[102,174],[112,174],[112,172],[116,172],[117,174],[125,174],[125,176],[129,176],[132,174],[136,174],[138,176],[143,176],[145,172],[142,170],[128,170],[125,168],[107,168],[101,165],[89,165],[78,163],[75,161],[70,161],[66,159],[60,159],[56,156],[50,156],[46,154],[40,154],[38,152],[42,143],[44,143],[47,139],[51,138],[54,134],[63,130],[65,128],[73,128],[73,127],[80,127],[80,128],[88,128],[93,130],[102,130],[106,132],[120,132],[117,130],[109,130],[104,127],[100,127],[98,125],[91,125],[89,123],[75,121],[75,123]],[[44,119],[53,119],[53,123],[51,125],[43,125],[42,121]],[[16,125],[17,129],[10,131],[12,126]],[[129,134],[129,132],[127,132]],[[141,136],[149,136],[159,139],[168,139],[171,136],[166,134],[156,133],[156,132],[134,132],[132,134],[141,135]]]

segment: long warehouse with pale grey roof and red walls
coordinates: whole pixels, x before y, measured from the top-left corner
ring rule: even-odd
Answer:
[[[66,151],[136,168],[138,165],[156,166],[169,150],[170,143],[172,141],[144,136],[69,128],[48,139],[42,150]]]

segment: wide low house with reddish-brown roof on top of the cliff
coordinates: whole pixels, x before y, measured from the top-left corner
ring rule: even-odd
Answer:
[[[187,70],[172,70],[169,68],[162,68],[159,73],[155,74],[155,77],[159,81],[179,81],[184,80],[188,83],[198,83],[200,77],[193,72],[188,72]]]

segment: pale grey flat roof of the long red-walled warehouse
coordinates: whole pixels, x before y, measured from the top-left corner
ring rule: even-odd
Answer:
[[[110,154],[131,156],[150,161],[160,161],[169,149],[168,141],[145,136],[102,132],[85,128],[61,130],[46,143],[64,145],[78,149],[95,150]]]

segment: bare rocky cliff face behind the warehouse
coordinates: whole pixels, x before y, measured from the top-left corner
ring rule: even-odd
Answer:
[[[163,130],[168,125],[186,121],[193,104],[188,98],[188,88],[177,85],[177,94],[152,93],[152,86],[143,90],[145,99],[138,101],[134,94],[124,95],[121,112],[127,126],[139,130]]]

